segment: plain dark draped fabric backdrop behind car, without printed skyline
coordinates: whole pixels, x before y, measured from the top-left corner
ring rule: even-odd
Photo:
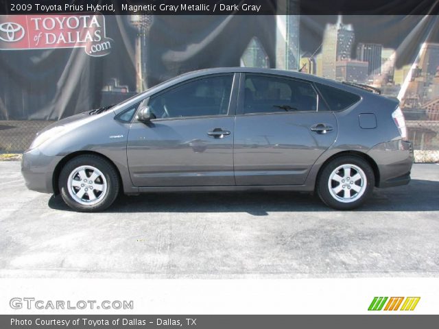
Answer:
[[[325,26],[336,21],[337,16],[300,16],[300,53],[314,53]],[[343,17],[353,25],[355,45],[396,49],[396,68],[414,63],[423,42],[439,41],[438,22],[438,16]],[[276,16],[155,16],[145,49],[148,84],[195,69],[239,66],[255,36],[275,67],[277,28]],[[0,50],[0,120],[56,120],[130,97],[136,92],[137,34],[130,16],[106,16],[106,36],[114,40],[107,56],[94,58],[83,48]],[[129,93],[104,97],[111,78]]]

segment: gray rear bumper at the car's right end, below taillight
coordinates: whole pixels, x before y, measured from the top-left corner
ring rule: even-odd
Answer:
[[[412,143],[403,140],[380,143],[372,147],[368,155],[378,166],[379,179],[375,186],[383,188],[409,184],[414,160]]]

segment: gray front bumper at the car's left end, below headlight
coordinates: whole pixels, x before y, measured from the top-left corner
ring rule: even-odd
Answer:
[[[38,148],[25,151],[21,160],[21,173],[29,190],[54,193],[53,176],[62,156],[48,156]]]

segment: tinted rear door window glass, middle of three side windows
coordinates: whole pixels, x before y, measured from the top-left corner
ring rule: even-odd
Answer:
[[[263,75],[246,75],[244,113],[316,111],[311,84]]]

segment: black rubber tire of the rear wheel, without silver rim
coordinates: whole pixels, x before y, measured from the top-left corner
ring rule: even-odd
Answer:
[[[337,199],[334,199],[334,197],[329,192],[329,175],[331,175],[332,171],[335,168],[339,167],[342,164],[355,164],[356,166],[360,167],[366,175],[366,191],[364,191],[364,194],[361,195],[361,197],[355,202],[344,203],[337,201]],[[366,202],[370,195],[372,195],[374,186],[375,174],[372,167],[370,167],[370,164],[368,164],[366,160],[358,156],[340,156],[339,158],[335,158],[328,162],[320,172],[320,175],[318,175],[317,191],[320,199],[322,199],[322,202],[324,202],[324,204],[326,204],[327,206],[339,210],[350,210],[364,204],[364,202]]]

